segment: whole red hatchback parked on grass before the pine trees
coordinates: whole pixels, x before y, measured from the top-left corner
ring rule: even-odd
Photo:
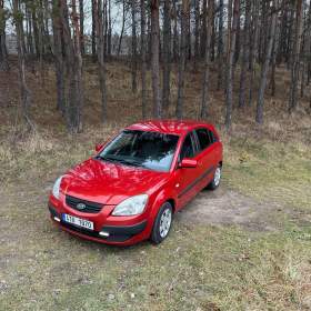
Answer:
[[[162,242],[172,215],[199,191],[218,188],[222,143],[198,121],[136,123],[97,156],[57,179],[49,198],[52,220],[97,242]]]

